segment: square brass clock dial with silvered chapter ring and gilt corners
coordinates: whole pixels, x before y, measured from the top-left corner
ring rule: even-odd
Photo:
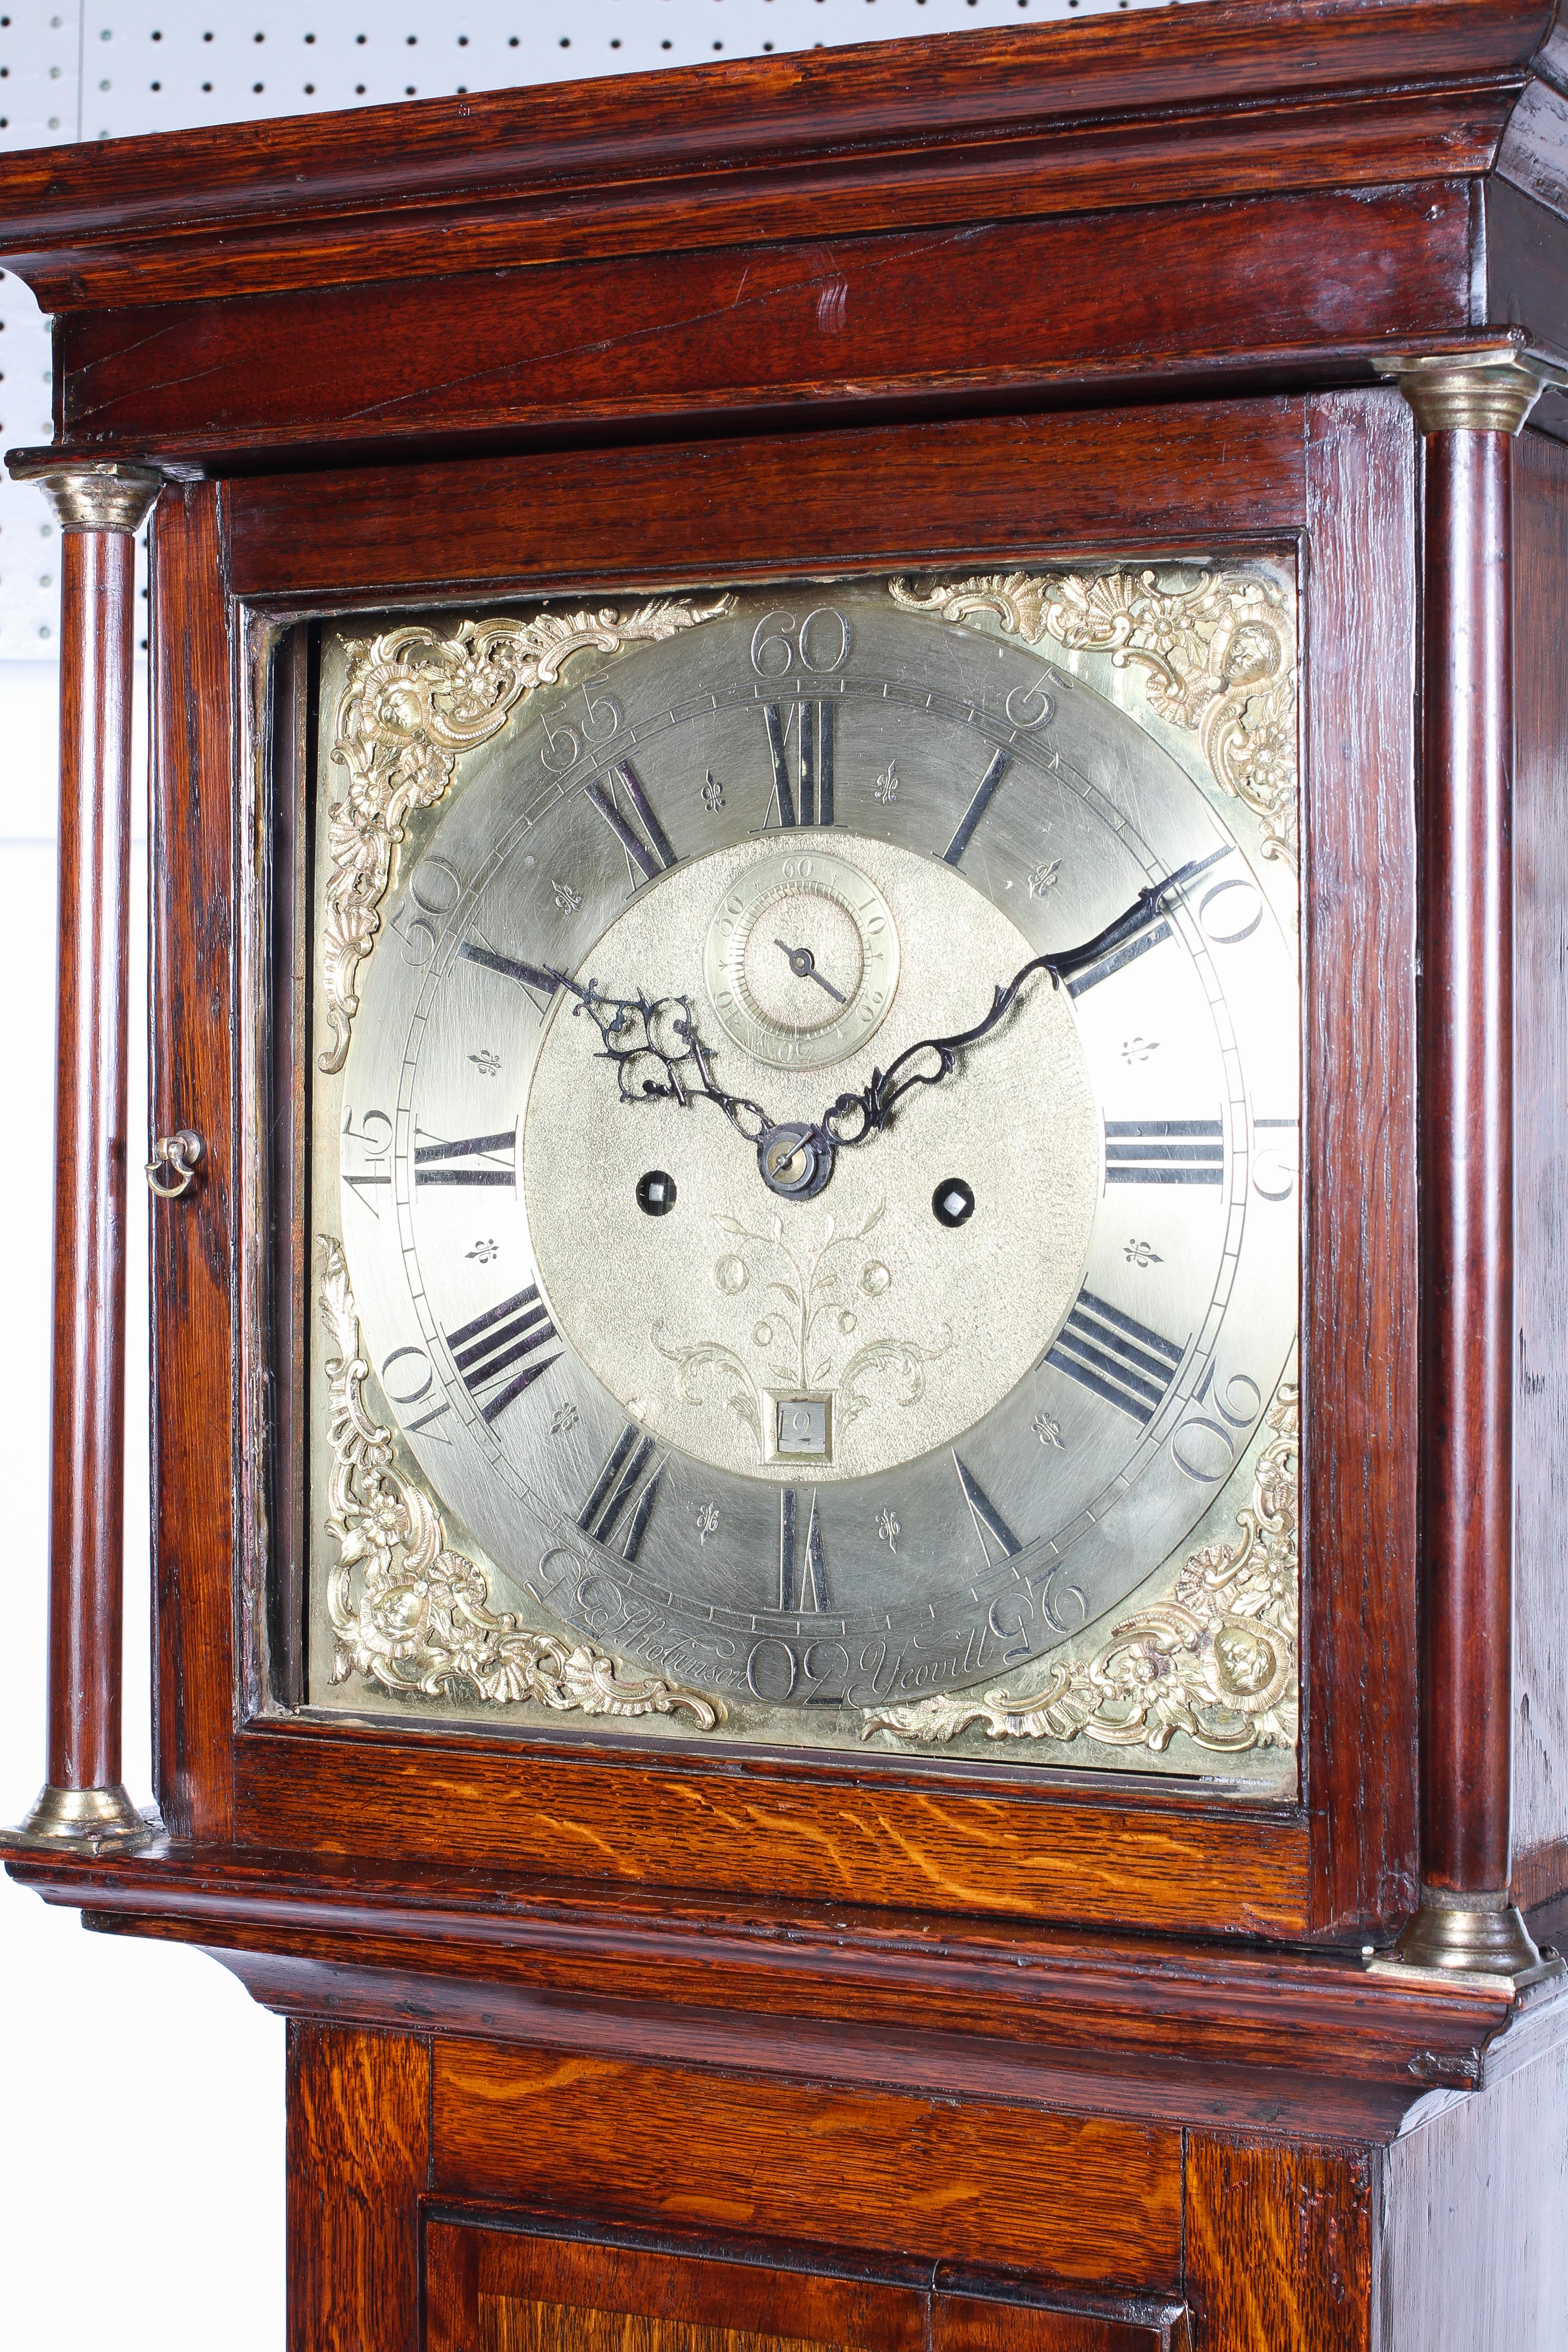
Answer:
[[[1295,1790],[1288,550],[324,623],[308,1700]]]

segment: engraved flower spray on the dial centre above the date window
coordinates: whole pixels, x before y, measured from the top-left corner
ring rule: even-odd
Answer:
[[[879,1301],[891,1287],[891,1275],[882,1258],[863,1256],[853,1275],[839,1256],[882,1223],[882,1202],[856,1225],[853,1232],[837,1232],[830,1216],[823,1242],[816,1251],[795,1251],[783,1237],[783,1218],[773,1216],[766,1232],[752,1232],[736,1216],[715,1216],[719,1232],[731,1235],[729,1249],[717,1258],[712,1279],[719,1291],[733,1296],[750,1279],[750,1258],[757,1254],[759,1270],[771,1268],[764,1282],[764,1312],[752,1324],[752,1348],[769,1362],[757,1371],[724,1341],[703,1338],[693,1343],[670,1343],[665,1324],[651,1329],[654,1345],[672,1364],[679,1364],[679,1395],[686,1404],[703,1404],[703,1374],[717,1374],[724,1385],[724,1404],[748,1428],[762,1451],[766,1416],[764,1383],[769,1388],[792,1388],[802,1392],[832,1392],[839,1428],[849,1428],[875,1404],[875,1383],[891,1381],[898,1404],[917,1404],[926,1392],[926,1364],[936,1362],[952,1345],[952,1329],[943,1324],[929,1343],[914,1338],[872,1338],[849,1355],[842,1341],[860,1331],[860,1301]],[[851,1291],[853,1284],[853,1291]],[[837,1369],[835,1369],[837,1367]]]

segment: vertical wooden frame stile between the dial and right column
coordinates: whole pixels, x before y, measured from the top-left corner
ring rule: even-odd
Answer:
[[[1309,409],[1302,1635],[1314,1926],[1415,1903],[1415,433]]]

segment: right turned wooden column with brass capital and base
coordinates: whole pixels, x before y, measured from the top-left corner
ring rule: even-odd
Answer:
[[[1523,1976],[1514,1750],[1512,348],[1401,362],[1425,435],[1420,1910],[1396,1964]]]

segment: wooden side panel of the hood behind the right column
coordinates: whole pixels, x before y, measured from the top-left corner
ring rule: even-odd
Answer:
[[[1568,1889],[1568,449],[1514,452],[1514,1884]]]

